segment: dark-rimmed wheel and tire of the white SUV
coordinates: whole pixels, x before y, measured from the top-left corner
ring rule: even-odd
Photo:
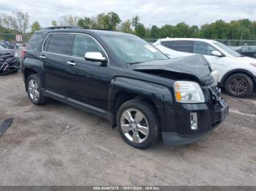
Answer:
[[[242,73],[233,74],[225,81],[225,90],[229,95],[244,98],[252,93],[252,79]]]

